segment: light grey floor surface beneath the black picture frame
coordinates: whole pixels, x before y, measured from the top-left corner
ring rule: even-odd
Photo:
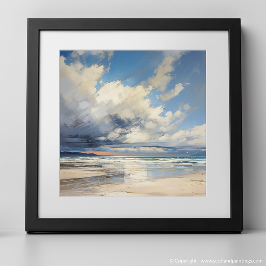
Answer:
[[[266,265],[266,230],[171,235],[49,235],[0,230],[1,266],[169,266],[187,259],[196,260],[196,265],[215,264],[201,262],[202,259],[263,260],[251,265]]]

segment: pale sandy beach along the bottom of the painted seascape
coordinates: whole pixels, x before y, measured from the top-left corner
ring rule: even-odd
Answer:
[[[170,178],[103,185],[97,185],[93,181],[88,184],[85,179],[82,179],[89,175],[104,175],[105,173],[101,171],[61,169],[60,173],[62,173],[60,179],[64,179],[61,181],[61,196],[206,196],[205,170],[192,171]],[[79,180],[75,180],[75,178]],[[72,180],[68,181],[67,179]],[[72,188],[77,186],[78,189]]]

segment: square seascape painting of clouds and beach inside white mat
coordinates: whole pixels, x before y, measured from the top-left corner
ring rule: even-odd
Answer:
[[[206,51],[59,60],[60,196],[206,196]]]

